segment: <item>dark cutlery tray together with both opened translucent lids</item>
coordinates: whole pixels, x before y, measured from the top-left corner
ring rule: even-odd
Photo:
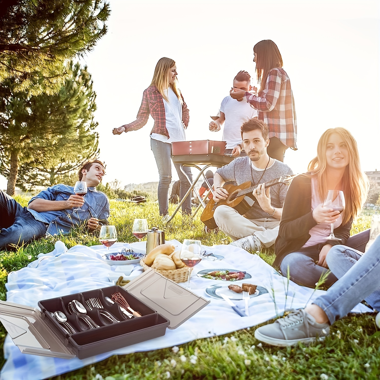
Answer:
[[[141,317],[128,318],[118,304],[105,297],[120,292]],[[98,298],[114,322],[90,308],[86,301]],[[99,327],[90,328],[68,304],[76,299]],[[22,353],[55,358],[79,358],[99,355],[118,348],[165,335],[166,327],[175,329],[210,301],[182,288],[153,270],[145,271],[125,287],[110,286],[38,302],[40,309],[0,300],[0,321]],[[69,334],[50,313],[60,311],[75,334]]]

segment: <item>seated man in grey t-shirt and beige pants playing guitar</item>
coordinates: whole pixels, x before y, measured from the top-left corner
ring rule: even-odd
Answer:
[[[252,199],[246,199],[253,204],[244,215],[221,204],[215,208],[214,220],[220,230],[233,239],[232,245],[260,251],[262,247],[271,247],[275,242],[287,192],[285,184],[266,188],[265,182],[284,174],[292,175],[293,172],[289,166],[269,157],[268,128],[264,122],[251,119],[243,123],[241,135],[248,157],[236,158],[216,171],[213,199],[215,202],[227,199],[228,192],[222,187],[226,181],[234,180],[237,185],[251,181],[254,186],[260,185],[253,191]]]

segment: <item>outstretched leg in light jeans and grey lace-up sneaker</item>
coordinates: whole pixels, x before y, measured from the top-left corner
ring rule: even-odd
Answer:
[[[339,250],[334,245],[331,251]],[[316,337],[329,335],[330,325],[347,315],[362,299],[369,296],[380,305],[380,236],[368,251],[335,282],[326,293],[305,309],[299,309],[274,323],[261,326],[255,337],[275,346],[291,346],[298,342],[308,344]],[[380,327],[380,314],[376,323]]]

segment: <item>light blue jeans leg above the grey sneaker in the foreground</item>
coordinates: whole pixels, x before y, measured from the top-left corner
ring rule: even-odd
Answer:
[[[369,250],[351,268],[318,297],[318,305],[328,316],[330,323],[344,317],[362,299],[378,293],[380,288],[380,236]],[[377,305],[379,299],[377,299]]]

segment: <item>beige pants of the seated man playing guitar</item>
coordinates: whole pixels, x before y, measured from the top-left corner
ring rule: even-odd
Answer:
[[[255,235],[264,247],[271,247],[279,234],[280,221],[274,218],[247,219],[230,206],[221,204],[214,212],[215,223],[233,241]]]

